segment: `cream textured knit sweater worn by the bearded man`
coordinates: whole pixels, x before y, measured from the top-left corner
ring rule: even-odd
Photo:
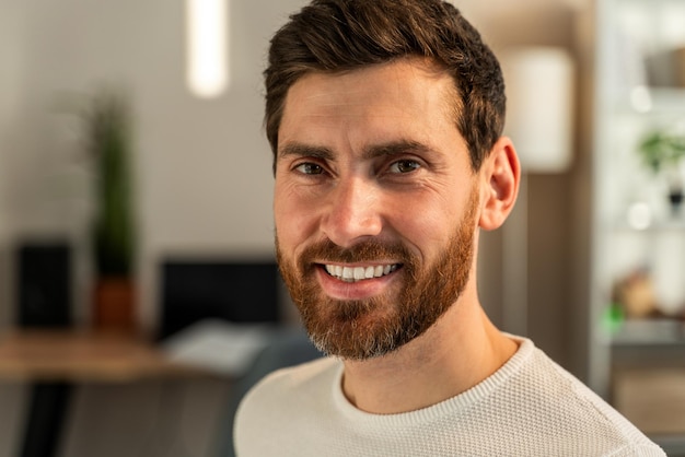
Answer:
[[[475,387],[400,414],[356,409],[338,360],[281,370],[243,400],[237,456],[665,456],[532,341],[520,343]]]

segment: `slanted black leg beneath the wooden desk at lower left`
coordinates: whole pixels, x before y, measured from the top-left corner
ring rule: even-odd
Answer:
[[[68,383],[37,383],[32,386],[21,457],[57,455],[71,387]]]

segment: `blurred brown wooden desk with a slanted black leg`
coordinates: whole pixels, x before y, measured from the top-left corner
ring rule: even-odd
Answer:
[[[0,380],[32,383],[21,457],[50,457],[74,383],[129,383],[197,376],[200,370],[169,360],[151,342],[69,330],[18,330],[0,336]]]

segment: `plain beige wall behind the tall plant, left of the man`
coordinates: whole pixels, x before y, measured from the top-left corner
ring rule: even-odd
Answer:
[[[156,268],[178,251],[270,256],[270,151],[262,129],[262,77],[269,36],[302,1],[230,2],[231,82],[211,101],[185,86],[183,2],[0,0],[24,27],[2,27],[0,220],[9,243],[67,235],[83,259],[92,204],[78,119],[61,107],[76,94],[118,84],[132,94],[141,223],[143,326],[154,326]],[[19,22],[21,24],[21,22]],[[11,45],[20,46],[11,47]],[[19,54],[19,56],[16,55]],[[9,68],[10,72],[5,72]],[[5,74],[7,73],[7,74]],[[21,74],[20,81],[14,74]],[[20,84],[21,83],[21,84]],[[20,102],[21,101],[21,104]],[[10,130],[8,128],[7,130]],[[88,263],[79,291],[88,285]],[[88,317],[85,296],[76,310]],[[7,307],[7,306],[3,306]]]

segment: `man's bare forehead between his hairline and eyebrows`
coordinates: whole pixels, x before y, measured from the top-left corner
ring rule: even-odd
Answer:
[[[363,149],[395,140],[461,140],[456,89],[425,59],[407,58],[346,72],[312,72],[286,97],[279,151],[289,142],[341,142]],[[330,144],[326,144],[330,145]]]

